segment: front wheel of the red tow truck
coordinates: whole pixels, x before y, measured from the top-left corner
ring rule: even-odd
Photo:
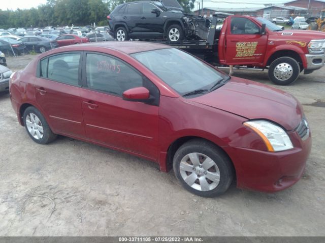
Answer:
[[[290,85],[300,73],[299,63],[291,57],[275,59],[269,67],[269,78],[276,85]]]

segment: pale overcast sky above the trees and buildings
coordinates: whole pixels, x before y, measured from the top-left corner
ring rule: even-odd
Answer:
[[[0,8],[2,10],[12,9],[30,9],[40,4],[45,4],[46,0],[1,0]],[[199,0],[195,3],[193,10],[197,10]],[[201,0],[200,0],[201,2]],[[212,8],[257,8],[264,7],[264,4],[282,4],[286,0],[203,0],[203,7]]]

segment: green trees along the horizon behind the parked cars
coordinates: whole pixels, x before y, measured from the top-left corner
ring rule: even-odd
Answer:
[[[10,1],[10,0],[9,0]],[[38,8],[0,10],[0,28],[45,27],[65,25],[107,25],[107,15],[120,4],[135,0],[47,0]],[[185,12],[195,0],[178,0]]]

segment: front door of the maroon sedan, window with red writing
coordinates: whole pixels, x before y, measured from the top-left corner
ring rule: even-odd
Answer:
[[[158,105],[122,99],[125,90],[143,86],[159,99],[150,80],[124,61],[100,53],[86,54],[82,79],[86,135],[95,142],[155,158]]]

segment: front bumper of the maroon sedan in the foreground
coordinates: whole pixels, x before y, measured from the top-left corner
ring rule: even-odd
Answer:
[[[268,152],[247,148],[228,148],[237,176],[237,187],[264,192],[284,190],[299,181],[311,150],[311,136],[303,141],[290,133],[293,149]]]

